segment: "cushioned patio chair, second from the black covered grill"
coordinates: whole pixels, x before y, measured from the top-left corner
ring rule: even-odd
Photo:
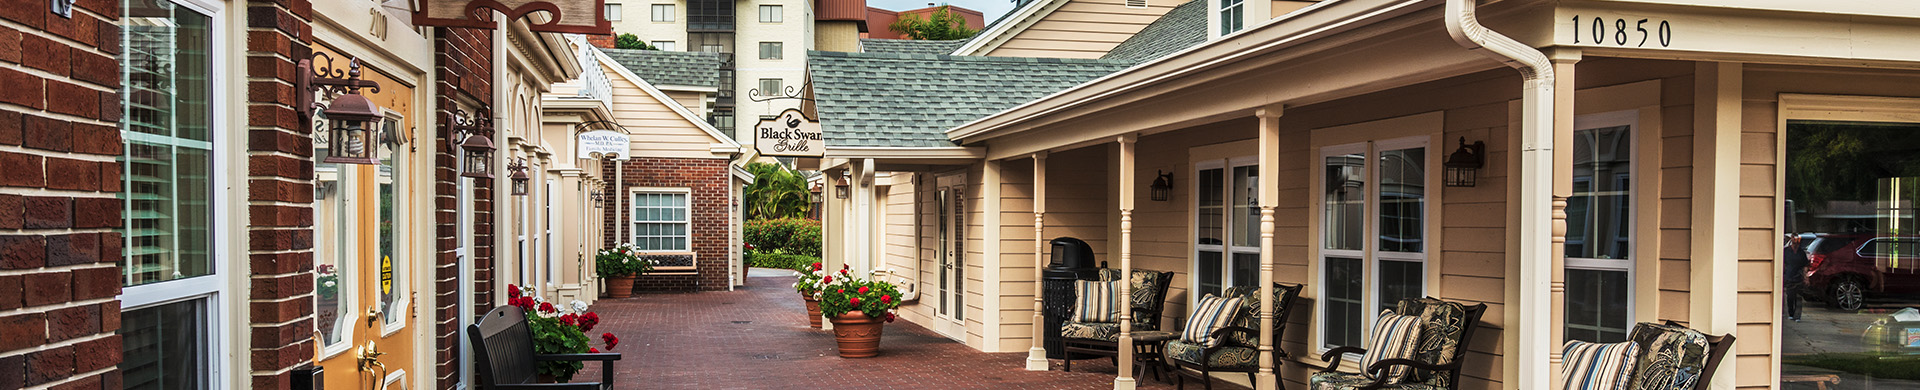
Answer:
[[[1273,284],[1273,338],[1279,340],[1286,334],[1286,315],[1294,309],[1294,298],[1300,298],[1302,284]],[[1240,313],[1231,325],[1213,330],[1212,338],[1221,338],[1219,346],[1208,348],[1185,340],[1167,340],[1165,355],[1173,361],[1179,378],[1179,386],[1187,388],[1187,377],[1198,378],[1206,388],[1213,388],[1213,373],[1246,373],[1252,380],[1254,373],[1260,371],[1260,286],[1235,286],[1221,292],[1225,296],[1240,298]],[[1275,344],[1279,346],[1279,344]],[[1286,352],[1273,348],[1273,363],[1279,367]]]

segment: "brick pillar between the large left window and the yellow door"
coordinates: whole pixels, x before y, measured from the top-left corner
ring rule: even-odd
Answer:
[[[288,388],[313,359],[313,136],[292,106],[296,61],[311,56],[313,4],[246,4],[248,373]],[[240,271],[240,269],[234,269]],[[236,315],[238,317],[238,315]]]

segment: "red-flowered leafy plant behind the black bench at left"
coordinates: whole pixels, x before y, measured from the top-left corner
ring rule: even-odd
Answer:
[[[507,304],[526,311],[526,330],[534,334],[534,353],[599,353],[599,348],[593,348],[593,340],[588,338],[588,332],[599,325],[599,313],[588,311],[586,302],[576,300],[568,307],[557,307],[530,288],[522,296],[520,286],[507,284]],[[612,332],[603,332],[601,342],[607,350],[620,346],[620,338]],[[540,361],[534,373],[566,382],[584,367],[580,361]]]

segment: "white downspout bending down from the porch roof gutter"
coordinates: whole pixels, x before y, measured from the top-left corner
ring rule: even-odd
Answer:
[[[1446,0],[1446,33],[1459,46],[1521,71],[1521,282],[1519,382],[1509,388],[1551,388],[1553,346],[1553,63],[1540,50],[1480,25],[1473,0]]]

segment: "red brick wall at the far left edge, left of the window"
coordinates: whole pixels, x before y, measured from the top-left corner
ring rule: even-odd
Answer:
[[[0,388],[121,388],[119,2],[0,19]]]

